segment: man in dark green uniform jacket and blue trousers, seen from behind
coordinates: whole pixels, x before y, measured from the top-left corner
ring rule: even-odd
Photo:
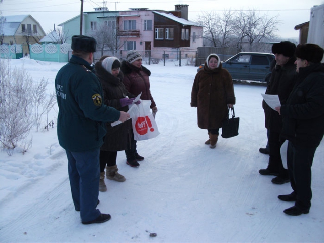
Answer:
[[[99,152],[106,134],[105,122],[126,121],[129,114],[102,103],[102,87],[92,72],[94,38],[72,37],[72,57],[55,78],[59,106],[57,134],[66,150],[73,203],[83,224],[110,219],[96,209],[99,203]]]

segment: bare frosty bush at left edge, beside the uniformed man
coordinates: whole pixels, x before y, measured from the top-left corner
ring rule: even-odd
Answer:
[[[23,153],[32,144],[27,141],[30,130],[38,128],[42,116],[48,113],[56,102],[56,94],[46,95],[48,82],[41,80],[34,84],[24,68],[11,69],[8,60],[0,59],[0,147],[9,155],[12,149],[23,142]]]

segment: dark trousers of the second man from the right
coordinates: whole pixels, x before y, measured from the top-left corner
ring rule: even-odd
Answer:
[[[273,132],[273,129],[269,132],[269,163],[268,170],[274,173],[278,173],[281,178],[289,178],[288,171],[282,165],[282,159],[280,154],[280,147],[285,140],[280,140],[280,133]]]

